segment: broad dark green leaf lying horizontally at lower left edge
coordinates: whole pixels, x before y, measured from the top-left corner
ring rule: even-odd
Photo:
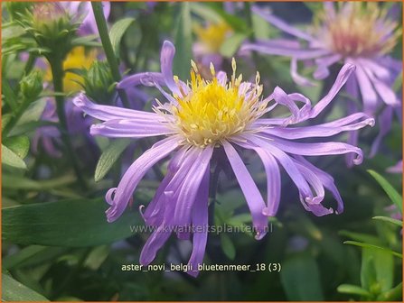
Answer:
[[[134,212],[127,210],[116,222],[108,223],[106,208],[103,197],[4,208],[3,240],[25,245],[88,247],[130,236]]]

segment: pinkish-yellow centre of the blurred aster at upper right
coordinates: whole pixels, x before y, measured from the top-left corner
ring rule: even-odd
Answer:
[[[371,57],[392,50],[400,32],[395,30],[397,23],[386,19],[387,11],[376,3],[351,5],[349,11],[340,9],[334,19],[319,15],[330,48],[344,57]]]

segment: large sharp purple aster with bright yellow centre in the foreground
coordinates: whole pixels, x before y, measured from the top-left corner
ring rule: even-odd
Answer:
[[[230,79],[224,72],[216,73],[211,65],[210,80],[202,78],[192,62],[191,81],[184,83],[173,75],[174,53],[174,45],[165,41],[161,51],[161,72],[136,74],[117,85],[119,88],[138,85],[156,87],[167,102],[158,101],[154,113],[100,106],[84,94],[74,99],[74,104],[83,112],[104,121],[92,125],[91,134],[113,138],[164,136],[136,159],[117,188],[108,190],[108,222],[114,222],[122,215],[147,170],[173,154],[155,197],[146,210],[142,210],[146,224],[155,227],[155,232],[142,250],[142,264],[149,264],[155,259],[155,254],[172,234],[174,227],[189,225],[199,228],[189,233],[177,233],[177,236],[180,239],[193,236],[193,253],[189,264],[196,269],[202,262],[207,241],[210,162],[213,152],[220,150],[227,156],[247,200],[257,239],[261,239],[268,230],[268,216],[277,213],[281,190],[280,167],[295,182],[305,209],[316,216],[332,214],[333,208],[322,205],[327,189],[337,202],[335,212],[339,214],[343,211],[343,200],[334,179],[306,161],[304,156],[353,153],[354,162],[360,164],[361,149],[343,142],[324,142],[321,138],[372,125],[373,119],[357,113],[325,124],[304,127],[291,125],[319,115],[352,74],[352,65],[343,67],[329,93],[312,106],[305,96],[287,94],[280,87],[267,98],[261,97],[259,75],[255,83],[243,82],[241,75],[236,77],[235,60],[232,60]],[[290,115],[264,118],[277,106],[286,106]],[[305,138],[318,138],[320,142],[300,142]],[[263,162],[268,176],[266,200],[243,163],[238,152],[240,149],[257,152]],[[197,275],[197,271],[189,273]]]

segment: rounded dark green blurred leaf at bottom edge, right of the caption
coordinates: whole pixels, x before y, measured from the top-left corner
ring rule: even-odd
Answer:
[[[318,266],[309,254],[297,254],[283,262],[280,279],[290,301],[324,300]]]

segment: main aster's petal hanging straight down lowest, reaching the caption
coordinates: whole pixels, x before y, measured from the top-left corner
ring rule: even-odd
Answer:
[[[196,277],[199,264],[203,262],[206,242],[208,240],[208,199],[209,199],[209,167],[205,170],[201,186],[198,190],[193,207],[193,253],[191,254],[188,265],[192,265],[193,271],[187,271],[188,274]]]

